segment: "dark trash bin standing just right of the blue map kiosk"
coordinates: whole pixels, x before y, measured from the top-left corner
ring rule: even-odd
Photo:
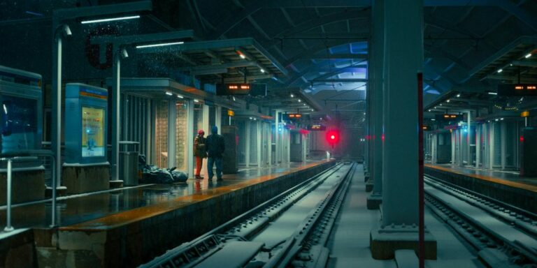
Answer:
[[[124,186],[138,185],[138,147],[140,142],[120,141],[120,179]]]

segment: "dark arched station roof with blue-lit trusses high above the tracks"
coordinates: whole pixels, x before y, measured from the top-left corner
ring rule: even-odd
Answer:
[[[6,33],[13,31],[13,24],[41,24],[58,8],[119,2],[131,1],[10,1],[0,8],[0,28]],[[372,3],[153,1],[152,10],[143,16],[143,23],[135,25],[136,29],[143,28],[144,34],[192,29],[195,37],[181,45],[181,52],[155,49],[141,55],[138,69],[146,70],[147,76],[154,71],[159,77],[180,72],[201,83],[242,82],[246,77],[249,82],[268,84],[269,100],[260,102],[276,103],[282,98],[279,101],[287,105],[283,98],[289,89],[297,88],[314,98],[323,112],[345,113],[341,107],[350,103],[334,101],[340,98],[333,96],[359,91],[341,99],[365,98],[361,92],[368,83]],[[535,82],[536,13],[537,2],[529,0],[425,0],[425,105],[434,104],[449,92],[482,96],[497,84],[518,82],[519,77],[520,82]],[[47,40],[45,45],[49,44]],[[0,52],[0,61],[9,62],[5,60],[9,53]],[[533,56],[526,57],[528,54]],[[352,120],[363,122],[364,108],[362,101],[356,101],[347,113]],[[357,114],[361,118],[356,118]]]

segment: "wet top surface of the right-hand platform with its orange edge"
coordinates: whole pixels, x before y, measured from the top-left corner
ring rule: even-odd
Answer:
[[[435,168],[452,172],[455,174],[466,175],[476,179],[483,179],[496,184],[503,184],[515,188],[523,188],[525,190],[534,191],[537,193],[537,177],[520,177],[519,172],[502,171],[502,170],[485,170],[471,167],[461,167],[457,165],[425,165],[428,168]],[[427,173],[427,172],[426,172]]]

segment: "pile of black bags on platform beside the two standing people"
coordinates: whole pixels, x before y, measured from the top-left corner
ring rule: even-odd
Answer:
[[[157,168],[155,165],[148,165],[145,156],[138,156],[138,170],[142,172],[141,183],[143,184],[173,184],[176,182],[186,182],[188,174],[176,171],[173,168]]]

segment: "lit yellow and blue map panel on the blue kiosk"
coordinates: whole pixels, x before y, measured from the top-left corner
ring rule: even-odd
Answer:
[[[104,156],[104,109],[82,107],[82,157]]]

